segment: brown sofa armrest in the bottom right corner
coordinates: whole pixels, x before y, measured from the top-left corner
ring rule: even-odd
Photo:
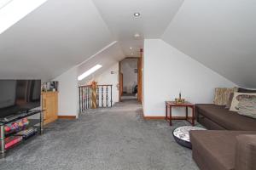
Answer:
[[[241,134],[236,136],[235,169],[256,169],[256,135]]]

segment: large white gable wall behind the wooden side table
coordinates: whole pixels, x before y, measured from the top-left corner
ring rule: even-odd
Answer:
[[[160,39],[144,41],[143,66],[144,116],[165,116],[165,101],[180,91],[190,102],[212,103],[214,88],[236,86]],[[181,109],[172,113],[184,116]]]

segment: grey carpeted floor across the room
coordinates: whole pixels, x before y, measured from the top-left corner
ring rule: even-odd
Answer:
[[[10,150],[0,169],[198,169],[191,150],[172,138],[172,129],[185,124],[145,121],[141,105],[128,100],[52,123],[44,135]]]

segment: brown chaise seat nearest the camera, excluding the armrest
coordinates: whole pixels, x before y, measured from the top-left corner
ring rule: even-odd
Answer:
[[[193,158],[201,169],[231,170],[235,167],[236,136],[256,134],[256,131],[195,130],[189,134]],[[194,151],[200,152],[200,157]],[[209,167],[202,167],[200,161]]]

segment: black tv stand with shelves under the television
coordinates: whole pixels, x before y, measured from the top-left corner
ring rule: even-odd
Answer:
[[[29,124],[29,127],[35,127],[38,129],[39,134],[43,134],[44,131],[44,111],[42,110],[31,110],[31,111],[26,111],[23,113],[20,113],[15,116],[9,116],[4,119],[0,120],[0,155],[3,156],[7,150],[5,150],[5,137],[6,133],[4,130],[4,126],[12,123],[19,121],[20,119],[26,118],[28,116],[33,116],[33,115],[39,115],[38,119],[32,119],[33,123]],[[31,120],[31,119],[29,119]],[[17,133],[17,132],[16,132]]]

